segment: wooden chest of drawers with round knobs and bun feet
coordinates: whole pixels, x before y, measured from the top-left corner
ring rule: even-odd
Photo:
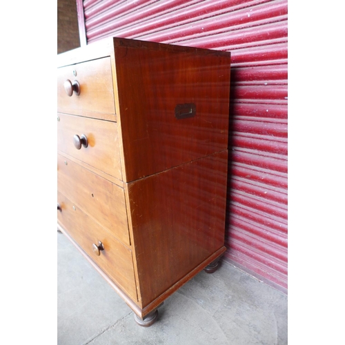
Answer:
[[[230,53],[107,38],[58,55],[58,228],[149,326],[224,253]]]

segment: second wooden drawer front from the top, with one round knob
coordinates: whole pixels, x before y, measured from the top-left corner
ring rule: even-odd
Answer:
[[[122,180],[117,123],[58,114],[57,149]],[[88,146],[78,150],[74,137],[85,135]]]

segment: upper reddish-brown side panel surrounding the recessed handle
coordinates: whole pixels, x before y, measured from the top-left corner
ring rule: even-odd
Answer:
[[[228,147],[229,55],[151,47],[115,47],[128,182]],[[185,103],[196,115],[177,119]]]

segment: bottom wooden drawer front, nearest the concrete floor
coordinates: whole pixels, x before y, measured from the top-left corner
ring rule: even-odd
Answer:
[[[96,221],[62,193],[57,193],[57,202],[61,211],[57,211],[59,224],[75,239],[93,261],[124,290],[133,300],[137,301],[135,273],[132,252],[112,237]],[[93,244],[103,244],[104,250],[99,256],[93,250]]]

